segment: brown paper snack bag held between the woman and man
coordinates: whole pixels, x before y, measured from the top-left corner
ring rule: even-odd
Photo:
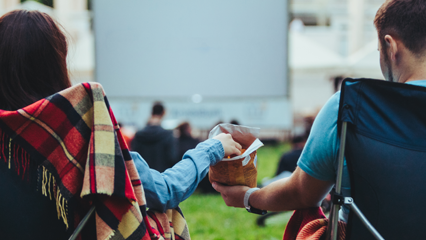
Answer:
[[[243,151],[241,151],[240,156],[225,156],[216,165],[211,166],[209,170],[210,182],[256,187],[256,150],[263,146],[263,143],[257,138],[259,128],[223,123],[210,131],[209,138],[213,138],[220,133],[230,133],[232,138],[242,146]]]

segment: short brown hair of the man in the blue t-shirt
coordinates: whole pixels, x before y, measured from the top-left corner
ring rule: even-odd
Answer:
[[[388,0],[377,11],[374,19],[379,41],[389,34],[417,56],[426,50],[426,1]]]

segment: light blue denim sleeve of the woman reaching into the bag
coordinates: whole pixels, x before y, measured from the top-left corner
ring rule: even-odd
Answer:
[[[130,154],[142,181],[147,207],[165,212],[191,196],[210,165],[219,162],[225,152],[219,140],[206,140],[188,150],[181,161],[163,173],[150,169],[137,152]]]

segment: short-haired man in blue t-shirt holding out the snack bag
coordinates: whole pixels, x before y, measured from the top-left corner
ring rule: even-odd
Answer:
[[[426,1],[387,0],[374,24],[379,37],[380,67],[388,81],[426,87]],[[289,178],[262,189],[213,183],[228,206],[285,211],[319,206],[334,185],[339,137],[337,115],[340,92],[318,114],[308,141]],[[342,192],[349,196],[350,182],[343,169]],[[347,218],[344,209],[341,217]]]

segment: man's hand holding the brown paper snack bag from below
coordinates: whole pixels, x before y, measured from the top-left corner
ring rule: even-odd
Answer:
[[[225,186],[216,182],[214,182],[212,186],[216,191],[220,192],[228,207],[244,208],[244,194],[250,189],[249,187]]]

